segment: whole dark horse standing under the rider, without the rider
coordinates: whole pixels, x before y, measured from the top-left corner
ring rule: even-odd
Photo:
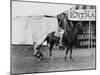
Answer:
[[[84,30],[84,27],[80,23],[77,23],[71,28],[70,31],[66,30],[64,32],[63,37],[62,37],[62,41],[61,41],[62,45],[59,46],[59,49],[60,49],[60,47],[66,48],[66,52],[65,52],[66,55],[64,57],[65,60],[67,58],[69,51],[70,51],[70,59],[73,59],[72,58],[72,51],[73,51],[73,47],[74,47],[76,39],[77,39],[77,35],[78,35],[78,33],[82,33],[83,30]],[[49,44],[49,52],[50,52],[49,56],[51,59],[53,59],[52,49],[53,49],[55,44],[59,44],[59,40],[60,40],[60,37],[56,37],[54,34],[55,34],[55,32],[51,32],[44,39],[44,41],[47,41],[47,44]],[[41,45],[43,44],[43,42],[41,43]]]

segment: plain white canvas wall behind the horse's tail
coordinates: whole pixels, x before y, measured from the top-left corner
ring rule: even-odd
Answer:
[[[16,17],[12,20],[12,44],[41,44],[57,27],[57,18]]]

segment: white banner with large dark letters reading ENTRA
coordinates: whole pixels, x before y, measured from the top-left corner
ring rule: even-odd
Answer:
[[[74,21],[95,21],[96,13],[94,9],[69,10],[68,18]]]

